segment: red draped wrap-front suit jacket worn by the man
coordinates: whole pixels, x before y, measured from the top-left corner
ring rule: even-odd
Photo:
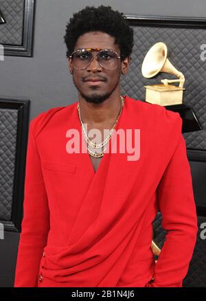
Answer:
[[[97,172],[89,153],[66,149],[67,131],[82,133],[78,102],[30,122],[14,287],[182,287],[198,231],[182,120],[124,98],[115,130],[140,129],[139,159],[107,152]],[[158,210],[167,235],[155,264]]]

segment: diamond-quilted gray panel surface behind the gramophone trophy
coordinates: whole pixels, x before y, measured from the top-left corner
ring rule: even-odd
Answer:
[[[176,78],[160,73],[144,78],[141,65],[148,49],[157,42],[168,46],[170,62],[185,75],[183,102],[194,109],[203,130],[183,133],[187,149],[206,150],[206,60],[201,60],[201,45],[206,41],[206,30],[180,27],[133,26],[135,45],[130,70],[122,76],[122,93],[145,101],[144,85],[160,83],[163,78]]]

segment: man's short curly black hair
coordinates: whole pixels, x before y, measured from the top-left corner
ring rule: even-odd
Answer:
[[[64,36],[67,45],[67,58],[73,52],[76,42],[82,34],[87,32],[105,32],[115,38],[119,45],[121,60],[133,51],[133,28],[123,16],[123,12],[112,10],[111,6],[86,6],[83,10],[73,14],[69,19]]]

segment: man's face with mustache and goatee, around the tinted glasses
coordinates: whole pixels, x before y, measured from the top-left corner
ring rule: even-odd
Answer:
[[[73,50],[82,48],[112,49],[120,55],[119,46],[114,41],[115,38],[113,36],[104,32],[87,32],[78,38]],[[73,74],[73,82],[80,96],[87,102],[98,104],[109,98],[115,91],[118,91],[118,94],[120,94],[120,76],[121,74],[126,74],[129,58],[126,58],[124,61],[121,61],[119,58],[115,69],[106,70],[96,60],[95,54],[97,52],[93,52],[93,54],[92,62],[84,70],[75,69],[71,63],[71,58],[69,58],[69,71]],[[89,78],[100,78],[102,81],[93,84],[93,82],[88,81]]]

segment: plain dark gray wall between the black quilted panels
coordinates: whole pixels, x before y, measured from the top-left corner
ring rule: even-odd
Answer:
[[[100,4],[111,5],[124,14],[206,16],[205,0],[37,0],[34,56],[5,56],[0,61],[0,98],[30,99],[30,120],[50,107],[75,102],[78,93],[67,68],[62,37],[73,12]],[[206,163],[190,163],[194,177],[206,177]],[[198,188],[198,194],[204,193],[200,181],[194,188]],[[18,244],[19,234],[14,232],[5,232],[4,240],[0,240],[0,287],[13,286]]]

